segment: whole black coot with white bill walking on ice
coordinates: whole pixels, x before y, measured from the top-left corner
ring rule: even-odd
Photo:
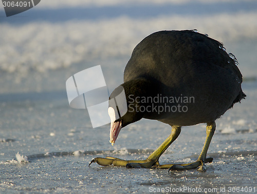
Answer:
[[[172,132],[146,160],[97,157],[91,163],[169,170],[198,167],[204,171],[205,163],[213,160],[206,154],[215,120],[246,97],[241,84],[235,57],[207,34],[195,30],[151,34],[134,48],[124,70],[124,83],[109,97],[110,142],[115,143],[121,128],[141,118],[169,124]],[[122,92],[123,99],[119,97]],[[160,165],[159,157],[178,137],[181,127],[201,123],[207,124],[207,137],[197,161]]]

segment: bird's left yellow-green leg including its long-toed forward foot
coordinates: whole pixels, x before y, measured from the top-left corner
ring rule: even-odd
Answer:
[[[161,154],[174,142],[174,140],[178,137],[180,134],[181,127],[178,126],[172,126],[172,131],[170,136],[164,140],[164,142],[157,148],[148,158],[145,160],[121,160],[116,157],[96,157],[94,158],[91,163],[96,162],[99,165],[102,166],[108,166],[108,165],[114,165],[114,166],[126,166],[127,168],[151,168],[151,167],[157,167],[159,166],[159,157]],[[90,165],[89,164],[89,165]]]

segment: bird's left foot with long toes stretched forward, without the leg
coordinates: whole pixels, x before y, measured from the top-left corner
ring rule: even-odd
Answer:
[[[89,165],[95,162],[101,166],[114,165],[114,166],[126,166],[127,168],[152,168],[159,165],[158,161],[155,162],[155,161],[150,161],[148,159],[126,161],[126,160],[121,160],[120,158],[117,158],[117,157],[109,157],[109,156],[105,158],[96,157],[89,163]]]

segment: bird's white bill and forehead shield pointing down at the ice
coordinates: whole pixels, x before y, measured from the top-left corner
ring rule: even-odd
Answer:
[[[112,107],[108,108],[108,114],[111,118],[110,143],[114,145],[122,126],[121,121],[114,122],[116,120],[116,117],[115,110]]]

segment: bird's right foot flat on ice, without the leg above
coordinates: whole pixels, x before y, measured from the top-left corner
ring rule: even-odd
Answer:
[[[206,171],[206,166],[205,163],[211,163],[213,161],[212,157],[208,157],[203,160],[197,160],[196,162],[189,163],[189,164],[174,164],[170,165],[169,171],[170,170],[185,170],[185,169],[193,169],[197,168],[198,171]],[[158,168],[162,168],[164,165],[160,165]],[[169,167],[169,165],[165,165],[166,167]]]

